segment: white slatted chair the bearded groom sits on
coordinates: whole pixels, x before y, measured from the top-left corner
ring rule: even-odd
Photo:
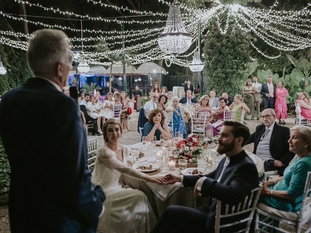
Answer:
[[[217,200],[216,216],[215,216],[215,233],[219,233],[222,228],[234,226],[245,222],[246,222],[245,228],[241,229],[239,232],[248,233],[256,210],[257,202],[259,200],[261,188],[262,185],[259,185],[259,187],[254,188],[243,202],[240,202],[239,204],[232,206],[231,208],[229,208],[230,206],[226,204],[225,214],[221,214],[222,202],[220,200]],[[249,214],[246,215],[246,213]],[[222,218],[226,218],[227,220],[229,220],[233,216],[239,215],[243,216],[243,218],[238,221],[232,221],[229,223],[226,222],[225,224],[221,225]]]

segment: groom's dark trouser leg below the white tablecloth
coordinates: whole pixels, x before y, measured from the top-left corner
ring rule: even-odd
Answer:
[[[203,208],[171,205],[163,212],[151,233],[205,233],[206,222],[207,212]]]

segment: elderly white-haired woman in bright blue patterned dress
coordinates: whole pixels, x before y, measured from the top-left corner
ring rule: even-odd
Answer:
[[[182,134],[184,138],[187,137],[186,121],[190,117],[190,113],[185,111],[183,106],[178,106],[179,98],[173,97],[173,105],[167,107],[166,112],[173,112],[173,134]]]

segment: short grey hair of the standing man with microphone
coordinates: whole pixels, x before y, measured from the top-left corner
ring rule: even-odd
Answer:
[[[59,62],[71,60],[69,38],[60,30],[37,30],[28,43],[27,63],[34,75],[54,74]]]

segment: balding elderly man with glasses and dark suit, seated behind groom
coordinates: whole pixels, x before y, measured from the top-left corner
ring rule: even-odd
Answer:
[[[253,153],[264,160],[264,170],[277,170],[282,176],[285,167],[294,158],[289,150],[290,129],[276,124],[276,112],[267,108],[261,114],[262,123],[249,137],[247,144],[254,142]]]

